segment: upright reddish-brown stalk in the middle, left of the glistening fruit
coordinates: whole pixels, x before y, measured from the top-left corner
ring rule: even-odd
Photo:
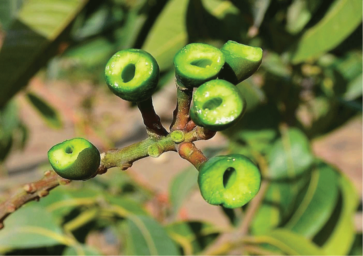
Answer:
[[[192,102],[193,89],[185,88],[179,85],[180,82],[175,80],[177,89],[176,108],[173,112],[174,118],[170,125],[170,131],[184,130],[189,119],[189,109]]]

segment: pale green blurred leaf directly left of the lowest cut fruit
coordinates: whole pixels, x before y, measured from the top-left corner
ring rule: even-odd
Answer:
[[[173,213],[178,214],[183,202],[198,188],[198,171],[192,167],[178,173],[171,181],[169,198]]]

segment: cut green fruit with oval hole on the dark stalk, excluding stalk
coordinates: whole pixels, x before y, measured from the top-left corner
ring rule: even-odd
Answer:
[[[118,51],[107,62],[105,79],[110,90],[127,101],[147,100],[159,81],[159,65],[144,50]]]

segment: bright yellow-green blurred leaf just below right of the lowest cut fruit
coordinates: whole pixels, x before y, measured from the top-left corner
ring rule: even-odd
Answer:
[[[251,230],[254,235],[266,234],[280,224],[280,201],[280,189],[276,185],[270,185],[261,206],[253,217]]]

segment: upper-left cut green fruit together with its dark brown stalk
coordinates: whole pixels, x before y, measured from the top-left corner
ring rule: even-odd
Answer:
[[[136,102],[149,135],[168,134],[152,105],[151,95],[159,81],[159,65],[151,54],[140,49],[118,51],[106,64],[105,79],[115,95]]]

